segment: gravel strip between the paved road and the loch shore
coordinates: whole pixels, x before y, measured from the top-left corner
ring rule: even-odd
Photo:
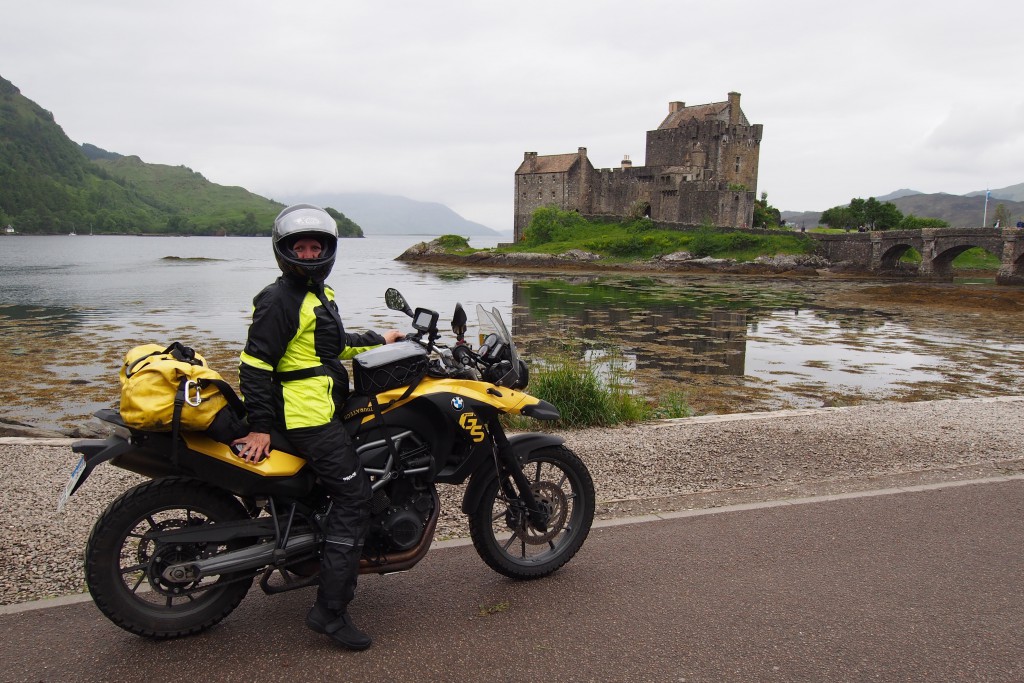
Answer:
[[[1024,472],[1024,396],[690,418],[565,432],[598,518]],[[47,444],[50,443],[50,444]],[[0,604],[84,591],[93,521],[140,477],[97,468],[61,514],[77,457],[0,439]],[[462,487],[441,486],[438,539],[468,535]]]

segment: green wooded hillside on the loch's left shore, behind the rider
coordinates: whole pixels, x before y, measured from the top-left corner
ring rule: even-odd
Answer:
[[[0,226],[23,234],[268,234],[283,204],[184,166],[78,145],[0,77]],[[334,212],[343,237],[358,225]]]

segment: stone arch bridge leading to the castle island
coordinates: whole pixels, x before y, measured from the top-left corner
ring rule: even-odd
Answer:
[[[1024,285],[1024,228],[937,227],[846,234],[811,233],[817,253],[833,263],[845,261],[868,272],[893,272],[911,247],[921,254],[918,276],[952,280],[952,261],[972,247],[999,257],[995,282]]]

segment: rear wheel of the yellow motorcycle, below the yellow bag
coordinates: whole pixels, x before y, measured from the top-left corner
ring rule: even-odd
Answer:
[[[204,631],[231,612],[252,575],[171,582],[175,563],[228,550],[227,544],[158,544],[145,535],[247,519],[229,494],[188,479],[147,481],[125,492],[96,520],[85,550],[85,579],[100,611],[126,631],[174,638]]]

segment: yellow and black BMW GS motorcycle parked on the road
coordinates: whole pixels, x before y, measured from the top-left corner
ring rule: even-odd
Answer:
[[[385,302],[413,318],[414,332],[353,359],[355,392],[342,412],[373,490],[359,572],[416,565],[434,537],[437,485],[468,480],[462,512],[480,558],[511,579],[551,574],[587,539],[594,482],[561,437],[506,435],[503,414],[559,414],[524,392],[528,371],[501,314],[477,306],[474,349],[461,304],[447,346],[436,311],[412,310],[394,289]],[[113,410],[96,417],[113,431],[72,445],[81,458],[59,507],[102,463],[150,478],[108,506],[86,545],[86,584],[108,618],[174,638],[223,620],[257,577],[267,594],[317,583],[329,499],[283,434],[271,434],[269,457],[248,463],[203,432],[175,441]]]

